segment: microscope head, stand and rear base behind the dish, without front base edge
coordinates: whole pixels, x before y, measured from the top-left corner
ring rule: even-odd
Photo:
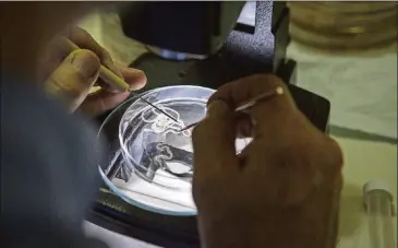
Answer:
[[[296,86],[296,62],[286,60],[286,2],[133,2],[120,12],[124,34],[148,46],[131,67],[145,71],[150,87],[218,88],[256,73],[288,84],[299,108],[326,131],[329,102]],[[249,20],[249,21],[248,21]]]

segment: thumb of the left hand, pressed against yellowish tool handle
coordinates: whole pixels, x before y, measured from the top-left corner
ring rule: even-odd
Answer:
[[[74,111],[97,81],[100,60],[89,50],[71,52],[45,83],[46,92]]]

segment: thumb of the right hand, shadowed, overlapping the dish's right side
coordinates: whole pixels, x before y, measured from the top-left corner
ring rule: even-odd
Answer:
[[[192,133],[196,177],[238,169],[233,111],[224,101],[208,105],[207,116]]]

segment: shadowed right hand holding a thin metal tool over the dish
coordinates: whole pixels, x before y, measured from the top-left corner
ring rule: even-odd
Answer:
[[[237,120],[233,107],[277,86],[285,93],[252,107],[251,125]],[[237,155],[243,126],[253,141]],[[335,247],[341,151],[303,116],[279,79],[253,75],[221,86],[192,139],[204,247]]]

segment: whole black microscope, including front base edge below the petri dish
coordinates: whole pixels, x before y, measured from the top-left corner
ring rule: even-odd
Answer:
[[[125,36],[147,45],[131,67],[145,71],[149,87],[201,85],[274,73],[300,110],[327,132],[329,102],[296,85],[286,2],[131,2],[119,10]],[[104,119],[101,117],[100,119]],[[200,247],[195,216],[171,216],[124,202],[106,187],[87,220],[160,247]]]

